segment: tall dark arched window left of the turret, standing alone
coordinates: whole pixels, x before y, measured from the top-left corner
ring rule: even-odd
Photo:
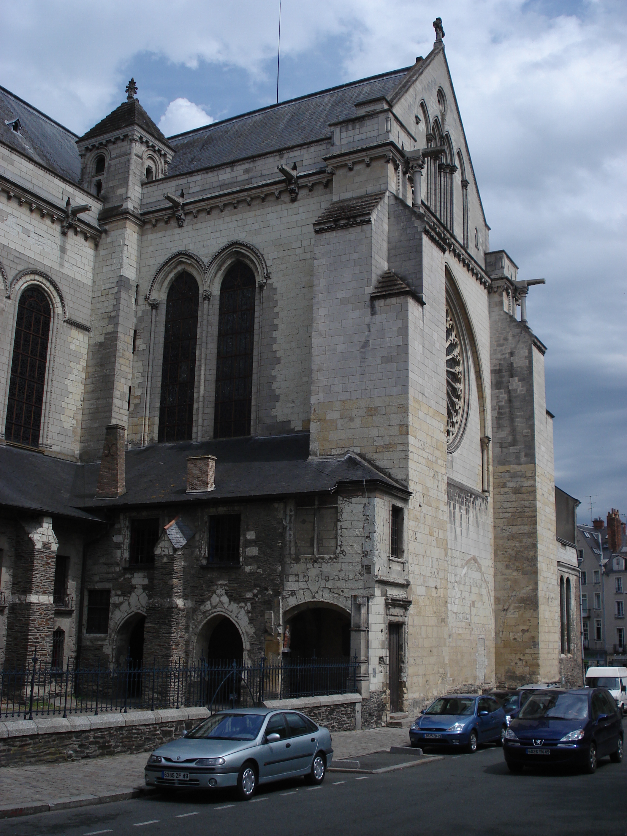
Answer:
[[[29,447],[39,446],[51,319],[45,294],[26,288],[18,302],[4,437]]]

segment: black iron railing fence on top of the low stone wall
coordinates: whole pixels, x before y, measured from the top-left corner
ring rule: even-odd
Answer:
[[[37,655],[23,669],[0,672],[0,717],[90,713],[126,713],[129,709],[206,706],[211,711],[259,706],[265,700],[346,694],[357,685],[359,660],[153,660],[137,666],[77,665],[64,668],[40,662]]]

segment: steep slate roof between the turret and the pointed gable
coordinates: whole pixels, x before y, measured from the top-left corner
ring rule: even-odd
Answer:
[[[178,175],[324,140],[331,134],[330,123],[357,115],[357,102],[389,97],[408,69],[342,84],[171,136],[176,154],[168,174]]]

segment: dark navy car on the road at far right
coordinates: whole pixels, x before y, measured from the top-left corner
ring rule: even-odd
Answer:
[[[549,764],[594,772],[599,757],[623,760],[623,718],[604,688],[535,691],[507,728],[503,754],[512,772]]]

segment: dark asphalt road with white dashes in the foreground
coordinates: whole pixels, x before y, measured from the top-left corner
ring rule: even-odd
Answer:
[[[500,748],[379,775],[328,772],[324,785],[283,782],[252,801],[187,791],[0,822],[0,836],[300,836],[481,833],[559,836],[627,833],[627,762],[594,775],[512,775]],[[533,831],[532,831],[533,828]]]

